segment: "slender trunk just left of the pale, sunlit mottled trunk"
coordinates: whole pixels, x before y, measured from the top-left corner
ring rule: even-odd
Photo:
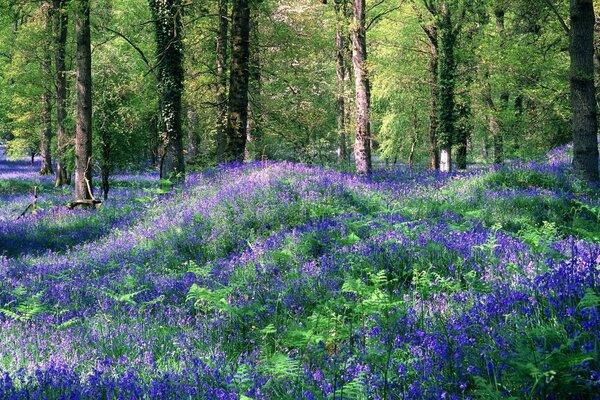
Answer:
[[[348,126],[346,125],[346,53],[348,44],[346,43],[346,30],[348,20],[344,8],[347,0],[335,0],[336,16],[336,40],[335,40],[335,61],[337,76],[337,156],[338,161],[345,162],[348,158]]]

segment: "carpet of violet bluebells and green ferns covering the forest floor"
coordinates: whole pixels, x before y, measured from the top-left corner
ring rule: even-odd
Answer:
[[[2,159],[0,398],[600,398],[600,196],[569,152],[139,172],[74,211]]]

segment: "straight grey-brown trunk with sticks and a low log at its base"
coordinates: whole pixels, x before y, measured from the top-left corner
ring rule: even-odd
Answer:
[[[75,199],[93,198],[92,187],[92,49],[90,2],[78,0],[77,31],[77,126],[75,130]]]

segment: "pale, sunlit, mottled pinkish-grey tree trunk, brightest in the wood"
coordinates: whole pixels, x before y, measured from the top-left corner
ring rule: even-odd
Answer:
[[[356,173],[370,174],[371,165],[371,124],[370,88],[367,68],[367,34],[365,29],[365,0],[355,0],[352,23],[352,64],[354,65],[356,139],[354,160]]]

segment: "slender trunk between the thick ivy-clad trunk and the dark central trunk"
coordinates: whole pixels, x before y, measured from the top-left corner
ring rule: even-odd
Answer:
[[[217,33],[217,162],[225,161],[227,147],[227,33],[229,0],[219,0]]]

